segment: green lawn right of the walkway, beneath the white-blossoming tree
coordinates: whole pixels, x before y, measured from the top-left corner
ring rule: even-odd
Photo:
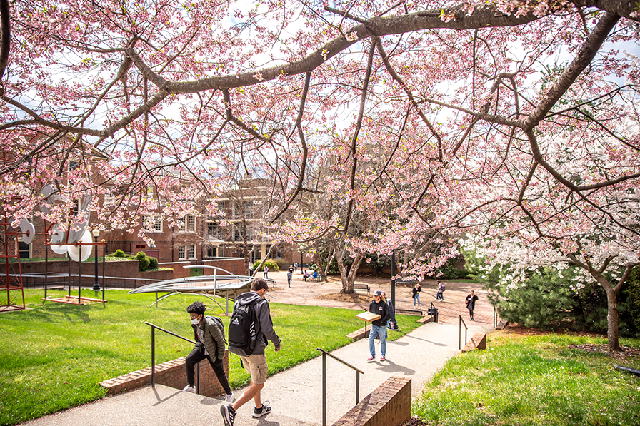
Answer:
[[[487,350],[454,357],[414,401],[428,425],[640,425],[640,356],[614,360],[574,344],[606,343],[569,335],[509,335]],[[621,340],[638,348],[640,340]]]

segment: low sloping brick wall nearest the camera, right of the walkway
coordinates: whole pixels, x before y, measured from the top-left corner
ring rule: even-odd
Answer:
[[[411,379],[389,377],[333,426],[399,426],[411,419]]]

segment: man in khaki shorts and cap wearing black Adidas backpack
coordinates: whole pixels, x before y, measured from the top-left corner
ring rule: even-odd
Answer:
[[[231,315],[229,324],[229,351],[239,355],[244,369],[251,375],[251,383],[249,387],[242,392],[242,395],[229,405],[222,405],[220,412],[225,426],[234,426],[236,419],[236,411],[249,402],[254,400],[254,418],[259,418],[271,412],[271,407],[264,405],[261,399],[261,391],[266,382],[266,357],[264,349],[271,340],[274,344],[276,352],[280,350],[280,338],[274,331],[274,323],[271,320],[271,311],[269,310],[269,302],[264,298],[264,293],[269,290],[269,285],[265,280],[256,278],[251,283],[251,291],[238,296],[234,303],[234,313]],[[251,314],[253,309],[254,315]],[[244,317],[243,317],[244,313]],[[234,325],[234,319],[246,319],[244,323],[248,325],[248,335],[238,335],[243,327],[240,325],[242,321],[236,320],[238,325]],[[249,318],[254,318],[251,322]],[[244,340],[246,345],[236,346],[236,342]]]

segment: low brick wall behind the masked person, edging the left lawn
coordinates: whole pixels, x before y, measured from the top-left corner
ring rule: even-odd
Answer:
[[[229,350],[224,351],[224,372],[229,377]],[[196,366],[196,389],[198,383],[198,367]],[[178,358],[162,364],[156,365],[156,383],[182,389],[186,386],[186,367],[184,367],[184,358]],[[129,372],[126,375],[114,377],[113,379],[104,380],[100,385],[106,387],[109,395],[116,395],[120,392],[134,390],[151,384],[151,367],[142,370]],[[224,389],[216,373],[214,372],[209,361],[200,362],[200,392],[199,395],[206,397],[217,397],[224,394]]]

